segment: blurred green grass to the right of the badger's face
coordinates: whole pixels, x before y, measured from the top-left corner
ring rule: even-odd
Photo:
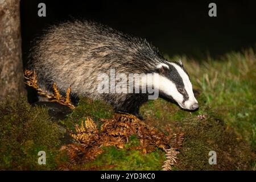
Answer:
[[[208,106],[236,130],[255,150],[256,60],[253,49],[231,52],[219,60],[210,57],[203,64],[183,57],[194,88],[199,89],[200,105]]]

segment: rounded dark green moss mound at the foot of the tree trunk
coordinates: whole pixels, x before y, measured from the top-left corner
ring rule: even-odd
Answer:
[[[0,168],[52,169],[60,144],[59,126],[43,107],[32,107],[24,98],[0,105]],[[46,152],[47,165],[38,164],[38,152]]]

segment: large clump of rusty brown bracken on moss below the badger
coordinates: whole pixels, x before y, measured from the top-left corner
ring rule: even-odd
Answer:
[[[69,131],[78,144],[68,144],[61,147],[61,150],[67,150],[70,163],[64,168],[77,166],[77,164],[86,163],[93,160],[98,154],[102,153],[102,146],[117,146],[123,148],[129,141],[131,135],[138,137],[139,146],[135,150],[142,150],[143,153],[151,152],[156,147],[162,148],[166,152],[166,162],[163,169],[170,170],[176,162],[176,148],[170,147],[170,140],[164,133],[147,126],[140,119],[131,114],[115,113],[113,118],[101,119],[103,124],[100,130],[97,129],[96,123],[90,118],[81,122],[81,126],[75,126],[75,132]],[[175,135],[181,136],[181,135]],[[183,136],[183,135],[182,135]],[[182,143],[181,137],[175,138],[176,145]],[[169,149],[166,149],[169,148]],[[72,165],[71,165],[72,164]]]

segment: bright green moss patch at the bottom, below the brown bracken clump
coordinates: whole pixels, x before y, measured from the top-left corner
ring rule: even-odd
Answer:
[[[164,152],[156,148],[154,152],[143,154],[142,151],[131,149],[137,145],[138,139],[132,136],[123,149],[115,146],[104,147],[104,152],[96,160],[83,167],[101,170],[160,170],[166,160]]]

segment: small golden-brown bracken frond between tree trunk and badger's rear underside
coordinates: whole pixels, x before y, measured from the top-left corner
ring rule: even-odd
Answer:
[[[25,84],[36,89],[39,96],[46,97],[49,100],[49,102],[57,102],[61,105],[68,106],[71,109],[75,109],[75,106],[71,103],[71,100],[70,100],[70,94],[71,94],[70,87],[67,89],[66,96],[63,97],[61,96],[59,90],[57,89],[57,85],[55,83],[52,85],[53,94],[49,94],[47,93],[47,91],[39,88],[35,71],[29,71],[26,69],[24,71],[24,78],[25,78]]]

